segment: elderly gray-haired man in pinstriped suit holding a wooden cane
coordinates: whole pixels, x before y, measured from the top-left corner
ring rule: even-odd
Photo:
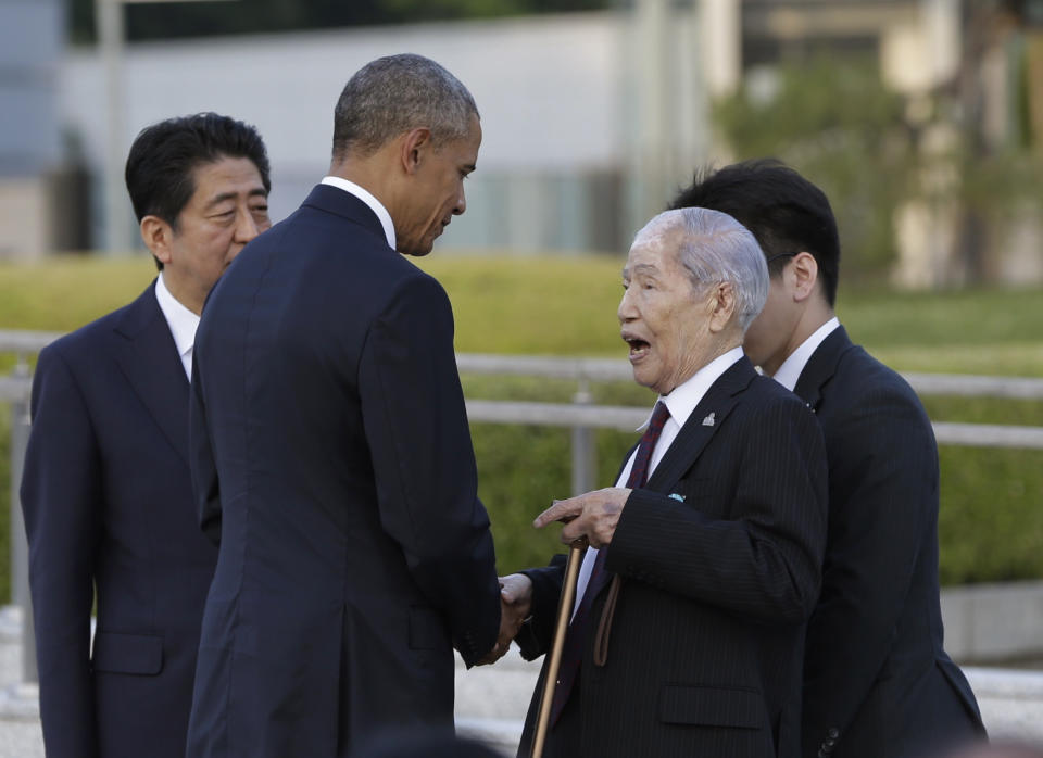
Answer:
[[[563,542],[598,548],[580,571],[544,755],[795,757],[826,454],[814,416],[740,346],[767,293],[764,256],[725,214],[671,211],[638,232],[623,281],[634,380],[659,400],[618,487],[537,518],[568,520]],[[562,569],[503,581],[531,612],[517,640],[533,658],[551,642]]]

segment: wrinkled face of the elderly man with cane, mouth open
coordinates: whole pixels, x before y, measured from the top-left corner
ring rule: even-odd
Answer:
[[[623,269],[618,311],[633,380],[664,395],[705,365],[711,351],[713,288],[692,287],[677,258],[680,237],[678,230],[639,236]]]

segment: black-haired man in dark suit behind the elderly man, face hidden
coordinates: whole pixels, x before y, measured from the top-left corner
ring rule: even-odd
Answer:
[[[698,178],[674,206],[730,214],[759,241],[771,287],[744,346],[826,437],[829,539],[808,624],[804,756],[921,756],[983,733],[942,648],[934,434],[916,393],[837,319],[829,201],[791,168],[754,161]]]

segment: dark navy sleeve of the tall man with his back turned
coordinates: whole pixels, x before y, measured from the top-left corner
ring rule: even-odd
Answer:
[[[495,643],[500,589],[437,281],[411,277],[392,294],[363,346],[359,389],[381,525],[470,666]]]

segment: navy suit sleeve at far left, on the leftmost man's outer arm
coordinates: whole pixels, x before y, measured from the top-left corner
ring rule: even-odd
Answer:
[[[90,612],[101,460],[90,414],[54,348],[40,353],[21,498],[29,543],[40,718],[47,755],[97,750]]]

